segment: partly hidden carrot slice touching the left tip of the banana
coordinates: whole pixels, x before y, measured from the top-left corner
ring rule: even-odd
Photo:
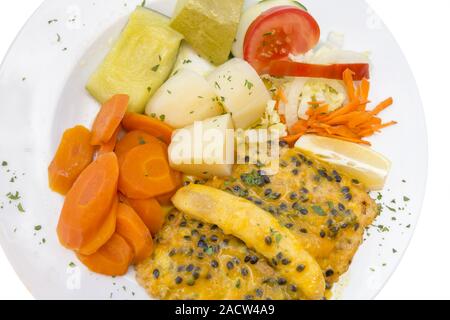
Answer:
[[[156,235],[161,230],[165,213],[156,199],[127,199],[126,202],[136,211],[152,235]]]

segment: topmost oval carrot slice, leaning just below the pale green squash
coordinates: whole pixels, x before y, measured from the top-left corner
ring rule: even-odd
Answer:
[[[111,140],[127,112],[129,100],[128,95],[118,94],[102,106],[92,126],[92,145],[99,146]]]

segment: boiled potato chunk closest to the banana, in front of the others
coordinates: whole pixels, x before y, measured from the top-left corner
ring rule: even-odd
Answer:
[[[234,136],[227,130],[233,129],[231,116],[225,114],[175,131],[169,146],[171,167],[201,178],[230,176]]]

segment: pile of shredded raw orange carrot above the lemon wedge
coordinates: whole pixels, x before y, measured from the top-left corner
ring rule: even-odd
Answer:
[[[344,72],[343,79],[349,103],[329,113],[329,106],[324,102],[310,102],[310,108],[306,112],[308,119],[300,119],[290,127],[290,135],[283,138],[284,141],[293,145],[305,134],[316,134],[370,145],[364,138],[397,124],[395,121],[383,123],[378,117],[383,110],[393,104],[392,98],[384,100],[373,110],[367,110],[370,82],[363,79],[355,86],[351,70]]]

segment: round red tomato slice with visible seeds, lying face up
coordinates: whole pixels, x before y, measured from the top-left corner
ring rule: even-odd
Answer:
[[[260,74],[271,61],[287,59],[289,54],[304,54],[320,39],[316,20],[306,11],[280,6],[261,14],[247,30],[244,59]]]

